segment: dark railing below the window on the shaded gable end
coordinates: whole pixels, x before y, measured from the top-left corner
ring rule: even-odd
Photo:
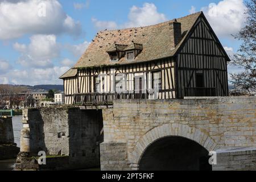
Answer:
[[[216,88],[184,88],[184,97],[214,97]]]

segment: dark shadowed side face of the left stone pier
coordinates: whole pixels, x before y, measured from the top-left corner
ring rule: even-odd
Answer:
[[[73,168],[100,167],[102,110],[69,110],[69,162]]]

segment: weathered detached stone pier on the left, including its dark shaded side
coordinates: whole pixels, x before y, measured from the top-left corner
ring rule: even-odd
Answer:
[[[65,164],[69,169],[98,167],[101,117],[100,110],[77,107],[25,109],[20,152],[30,156],[37,156],[39,151],[57,158],[69,156],[68,166]]]

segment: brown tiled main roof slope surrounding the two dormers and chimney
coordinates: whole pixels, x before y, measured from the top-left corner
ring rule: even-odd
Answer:
[[[113,63],[109,61],[107,51],[114,50],[113,45],[116,44],[131,46],[132,43],[135,42],[143,45],[142,52],[135,57],[132,63],[173,56],[200,14],[201,12],[177,19],[177,22],[181,23],[183,39],[175,48],[170,44],[174,39],[170,31],[170,23],[173,22],[173,20],[147,27],[100,31],[74,68],[131,64],[131,61],[127,61],[125,57],[122,57],[118,62]]]

